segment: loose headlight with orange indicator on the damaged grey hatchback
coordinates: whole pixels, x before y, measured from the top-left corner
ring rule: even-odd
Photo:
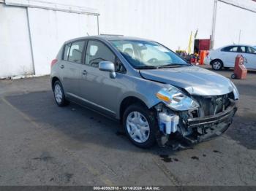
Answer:
[[[175,111],[187,111],[199,107],[197,101],[189,98],[181,90],[173,86],[162,88],[156,95],[167,107]]]

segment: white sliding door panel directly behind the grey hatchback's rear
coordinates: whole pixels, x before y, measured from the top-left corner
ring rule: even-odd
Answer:
[[[97,35],[97,16],[28,7],[36,75],[50,74],[50,61],[68,39]]]

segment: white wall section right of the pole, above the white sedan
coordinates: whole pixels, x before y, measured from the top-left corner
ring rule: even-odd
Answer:
[[[239,43],[256,45],[256,9],[252,12],[219,1],[214,48]]]

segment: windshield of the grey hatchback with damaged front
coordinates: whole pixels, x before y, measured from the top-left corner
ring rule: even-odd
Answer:
[[[157,42],[139,40],[113,40],[111,43],[135,69],[190,65],[176,53]]]

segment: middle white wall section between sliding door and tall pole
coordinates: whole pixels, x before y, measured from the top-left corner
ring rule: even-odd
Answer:
[[[187,50],[191,31],[195,34],[198,29],[200,39],[211,34],[213,0],[74,0],[72,4],[98,9],[100,34],[154,39],[173,50]]]

